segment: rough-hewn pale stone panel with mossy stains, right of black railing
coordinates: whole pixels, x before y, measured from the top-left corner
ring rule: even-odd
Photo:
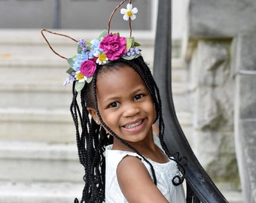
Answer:
[[[233,137],[230,41],[200,40],[190,62],[194,150],[215,182],[239,185]]]

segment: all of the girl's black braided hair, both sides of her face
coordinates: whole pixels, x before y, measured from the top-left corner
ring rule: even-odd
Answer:
[[[148,163],[151,167],[151,173],[154,178],[154,183],[157,185],[157,178],[155,176],[153,165],[148,161],[142,154],[139,153],[133,146],[128,144],[118,135],[116,135],[102,120],[101,115],[99,114],[98,101],[96,96],[96,79],[97,75],[105,70],[110,68],[118,68],[124,65],[128,65],[133,68],[139,75],[142,77],[142,80],[145,83],[148,91],[151,93],[151,97],[154,102],[154,107],[157,112],[158,127],[159,127],[159,138],[160,144],[163,147],[166,155],[170,159],[173,159],[169,153],[166,144],[163,141],[163,132],[164,132],[164,123],[162,117],[162,105],[160,99],[160,91],[157,87],[157,84],[154,81],[154,78],[151,74],[150,68],[144,62],[142,56],[139,56],[137,59],[125,60],[117,59],[115,61],[109,62],[106,65],[98,65],[96,68],[96,73],[93,76],[92,83],[86,83],[84,89],[81,90],[81,108],[78,105],[77,98],[78,92],[75,91],[75,82],[73,83],[73,100],[70,107],[72,112],[72,117],[75,122],[76,129],[76,140],[78,146],[78,156],[81,162],[81,165],[84,165],[84,190],[81,198],[81,202],[104,202],[105,201],[105,147],[108,144],[113,143],[113,136],[117,138],[120,142],[125,144],[127,147],[130,147],[135,153],[142,157],[145,162]],[[95,108],[96,114],[99,117],[101,126],[97,125],[96,122],[90,117],[87,108]],[[81,110],[82,111],[81,111]],[[81,124],[81,127],[79,126]],[[108,132],[106,132],[106,130]],[[113,135],[113,136],[111,136]],[[175,162],[176,159],[174,159]],[[180,165],[181,166],[181,165]],[[182,168],[182,166],[181,166]],[[183,169],[183,168],[182,168]],[[184,172],[184,170],[183,170]],[[174,181],[175,179],[175,181]],[[178,179],[178,182],[177,182]],[[172,180],[172,183],[179,185],[183,182],[183,177],[175,176]],[[78,199],[75,199],[75,202],[78,203]]]

